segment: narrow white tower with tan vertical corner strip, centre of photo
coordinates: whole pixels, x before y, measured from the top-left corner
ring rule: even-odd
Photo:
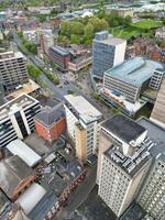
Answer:
[[[98,130],[102,114],[81,96],[65,96],[67,132],[76,143],[76,155],[82,162],[98,148]]]

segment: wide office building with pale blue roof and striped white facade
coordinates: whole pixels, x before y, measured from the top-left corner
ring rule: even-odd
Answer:
[[[143,57],[131,58],[105,73],[103,88],[117,91],[127,101],[135,103],[140,95],[148,88],[151,78],[157,73],[156,69],[163,72],[163,64]],[[152,85],[156,87],[157,82],[153,79]]]

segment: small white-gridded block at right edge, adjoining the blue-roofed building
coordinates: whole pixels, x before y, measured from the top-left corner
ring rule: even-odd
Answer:
[[[152,76],[150,85],[148,85],[150,88],[158,90],[161,87],[161,84],[163,81],[164,75],[165,75],[165,68],[164,69],[163,68],[155,69],[154,75]]]

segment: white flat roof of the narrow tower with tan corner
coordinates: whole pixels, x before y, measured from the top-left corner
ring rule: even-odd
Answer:
[[[65,96],[66,106],[74,109],[78,117],[85,122],[90,123],[95,120],[101,119],[102,114],[91,103],[89,103],[82,96]],[[72,110],[72,109],[70,109]]]

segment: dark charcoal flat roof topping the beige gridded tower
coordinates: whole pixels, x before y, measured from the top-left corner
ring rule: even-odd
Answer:
[[[122,141],[130,143],[136,140],[145,128],[123,114],[117,114],[101,124]]]

